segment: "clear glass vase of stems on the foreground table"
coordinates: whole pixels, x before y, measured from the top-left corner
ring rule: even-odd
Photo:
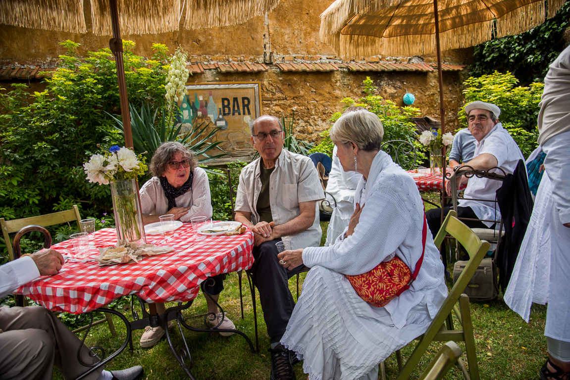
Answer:
[[[117,239],[131,243],[146,243],[143,216],[135,179],[111,181],[111,197]]]

